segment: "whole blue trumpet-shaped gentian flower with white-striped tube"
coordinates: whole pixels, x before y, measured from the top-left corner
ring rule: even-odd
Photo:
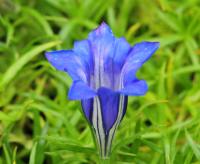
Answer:
[[[115,38],[103,22],[87,39],[76,41],[72,50],[46,53],[56,69],[71,76],[73,84],[68,97],[81,101],[102,158],[110,155],[128,96],[147,92],[146,82],[138,80],[136,72],[158,47],[158,42],[141,42],[131,47],[124,38]]]

